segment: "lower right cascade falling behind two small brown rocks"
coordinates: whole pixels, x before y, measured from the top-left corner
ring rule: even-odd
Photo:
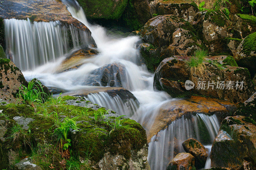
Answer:
[[[152,170],[166,169],[174,154],[185,152],[182,143],[195,138],[202,144],[211,144],[219,130],[216,115],[196,114],[182,116],[166,129],[151,138],[148,147],[148,162]]]

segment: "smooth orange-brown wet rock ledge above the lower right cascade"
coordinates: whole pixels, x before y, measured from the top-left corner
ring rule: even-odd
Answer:
[[[216,114],[218,119],[222,121],[231,113],[236,111],[236,105],[228,101],[218,99],[204,98],[199,96],[192,96],[190,99],[171,100],[164,103],[159,109],[159,114],[156,116],[154,122],[150,124],[144,123],[143,126],[147,129],[148,142],[151,137],[156,135],[160,130],[165,129],[168,125],[179,119],[181,116],[189,116],[193,113],[204,113],[208,115]],[[145,120],[144,122],[148,122]]]

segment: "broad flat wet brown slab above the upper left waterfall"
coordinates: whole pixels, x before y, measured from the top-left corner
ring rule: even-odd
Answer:
[[[32,21],[61,21],[68,25],[76,26],[89,35],[89,41],[95,45],[91,31],[76,18],[73,18],[66,5],[57,0],[34,1],[5,1],[0,7],[0,17],[3,19],[27,19]]]

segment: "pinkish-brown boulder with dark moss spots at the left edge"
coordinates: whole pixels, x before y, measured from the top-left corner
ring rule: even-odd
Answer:
[[[20,85],[28,85],[18,67],[9,59],[0,58],[0,99],[6,102],[16,101]]]

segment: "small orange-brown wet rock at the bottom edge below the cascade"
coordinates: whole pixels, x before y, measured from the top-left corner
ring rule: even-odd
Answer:
[[[195,158],[190,153],[179,153],[167,165],[166,170],[192,170],[195,167]]]

